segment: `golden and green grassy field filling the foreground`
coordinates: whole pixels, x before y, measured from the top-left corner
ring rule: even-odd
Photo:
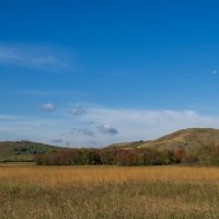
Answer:
[[[219,169],[0,165],[1,219],[219,218]]]

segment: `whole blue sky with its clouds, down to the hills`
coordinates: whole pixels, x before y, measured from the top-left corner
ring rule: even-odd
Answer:
[[[219,2],[0,2],[0,140],[72,147],[219,128]]]

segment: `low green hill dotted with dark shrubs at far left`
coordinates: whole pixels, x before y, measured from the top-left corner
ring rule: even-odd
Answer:
[[[32,141],[0,141],[0,161],[33,161],[34,154],[60,150],[60,147]]]

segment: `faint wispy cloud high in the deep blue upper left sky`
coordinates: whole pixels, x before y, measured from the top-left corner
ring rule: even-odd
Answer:
[[[69,55],[45,46],[0,44],[0,64],[41,70],[67,70]]]

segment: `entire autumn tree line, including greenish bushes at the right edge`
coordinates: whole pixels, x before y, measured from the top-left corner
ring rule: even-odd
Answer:
[[[219,165],[219,145],[199,143],[187,150],[141,149],[62,149],[34,157],[38,165]]]

